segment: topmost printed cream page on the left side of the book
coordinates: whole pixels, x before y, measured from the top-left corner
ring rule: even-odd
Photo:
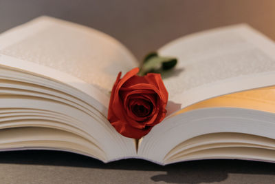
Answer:
[[[50,17],[1,34],[1,54],[56,70],[48,77],[56,78],[60,72],[74,76],[104,96],[108,96],[118,72],[137,66],[132,54],[107,34]],[[41,71],[36,65],[29,68]]]

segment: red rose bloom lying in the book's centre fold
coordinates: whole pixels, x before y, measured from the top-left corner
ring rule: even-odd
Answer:
[[[137,76],[138,68],[120,79],[118,74],[109,103],[108,120],[123,136],[140,139],[166,114],[168,92],[160,74]]]

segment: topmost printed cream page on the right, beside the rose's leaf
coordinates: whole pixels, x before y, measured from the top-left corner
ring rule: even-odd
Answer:
[[[184,108],[214,96],[275,84],[275,46],[248,25],[176,39],[159,50],[177,57],[164,83],[169,100]]]

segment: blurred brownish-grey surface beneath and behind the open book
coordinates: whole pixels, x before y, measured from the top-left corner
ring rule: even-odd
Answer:
[[[0,32],[40,15],[96,28],[137,59],[178,37],[248,23],[275,39],[274,0],[0,0]],[[54,151],[0,152],[0,183],[274,183],[275,164],[190,161],[160,166],[142,160],[104,164]]]

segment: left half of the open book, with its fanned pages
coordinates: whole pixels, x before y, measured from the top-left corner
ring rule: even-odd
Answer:
[[[107,109],[118,72],[136,66],[120,42],[67,21],[39,17],[0,34],[0,151],[135,156],[135,140],[115,131]]]

